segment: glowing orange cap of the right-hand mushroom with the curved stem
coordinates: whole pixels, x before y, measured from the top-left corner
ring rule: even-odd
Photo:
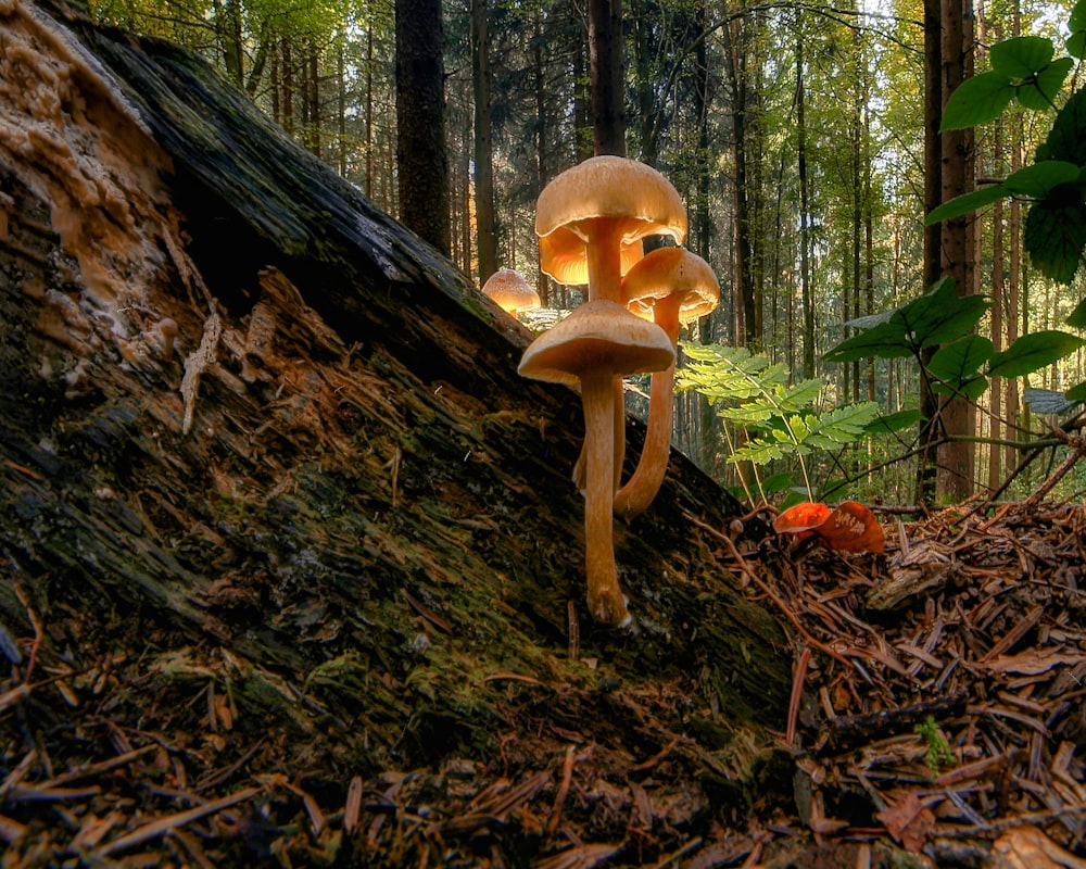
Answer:
[[[679,322],[704,317],[720,302],[720,284],[712,268],[696,253],[683,248],[658,248],[630,269],[622,279],[622,300],[631,312],[653,318],[660,299],[679,297]]]

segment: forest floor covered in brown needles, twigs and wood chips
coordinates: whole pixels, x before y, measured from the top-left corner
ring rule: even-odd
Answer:
[[[2,747],[22,763],[0,781],[2,865],[1086,866],[1086,511],[883,524],[885,554],[862,556],[706,529],[794,650],[790,717],[753,773],[709,751],[677,687],[608,685],[606,706],[554,720],[546,697],[570,687],[510,672],[491,677],[508,683],[497,756],[460,745],[337,781],[315,771],[333,726],[241,726],[216,689],[228,656],[149,667],[168,643],[136,617],[126,632],[28,612],[33,642],[4,638],[21,663],[0,683]],[[611,747],[631,731],[665,747]]]

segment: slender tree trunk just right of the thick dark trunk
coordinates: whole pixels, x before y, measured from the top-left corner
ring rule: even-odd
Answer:
[[[479,253],[479,286],[481,287],[487,282],[487,278],[497,270],[487,0],[471,0],[471,37],[475,54],[472,84],[475,88],[476,249]]]

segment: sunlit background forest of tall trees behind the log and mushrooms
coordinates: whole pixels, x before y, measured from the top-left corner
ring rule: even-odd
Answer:
[[[108,22],[206,56],[289,135],[400,214],[393,0],[96,0],[92,7]],[[944,56],[944,104],[957,85],[954,75],[947,80],[948,67],[961,80],[989,68],[988,49],[1000,40],[1045,36],[1060,53],[1066,36],[1070,10],[1058,3],[947,7],[957,7],[960,50],[954,63]],[[538,286],[544,307],[568,308],[579,301],[576,290],[538,269],[534,203],[547,180],[593,152],[586,9],[572,0],[445,0],[441,16],[447,252],[480,285],[497,267],[516,268]],[[944,274],[938,251],[945,266],[946,237],[932,236],[929,211],[1032,163],[1052,127],[1056,104],[1037,112],[1012,102],[975,133],[944,135],[943,165],[952,164],[960,177],[944,171],[933,187],[939,158],[933,169],[925,142],[933,129],[938,135],[940,97],[936,90],[933,118],[925,83],[940,67],[933,70],[925,51],[925,27],[945,32],[948,22],[932,16],[933,4],[925,9],[921,0],[623,4],[627,152],[678,188],[690,213],[687,247],[721,284],[720,307],[689,336],[687,355],[697,364],[687,369],[692,388],[680,395],[674,442],[750,496],[779,501],[806,477],[810,494],[910,504],[931,493],[922,469],[952,466],[936,475],[945,499],[1021,498],[1045,479],[1046,461],[1050,467],[1075,449],[1047,433],[1053,416],[1036,418],[1037,410],[1065,415],[1069,408],[1049,402],[1031,411],[1024,390],[1062,393],[1086,379],[1077,331],[1066,333],[1084,294],[1081,273],[1056,280],[1034,266],[1018,200],[994,196],[975,219],[954,215],[968,225],[955,254],[969,263],[954,273],[957,293],[986,299],[971,308],[976,317],[967,330],[990,341],[992,353],[1048,332],[1060,342],[1049,354],[1059,361],[1046,358],[1026,376],[1013,366],[998,376],[992,367],[987,389],[961,388],[976,386],[969,376],[951,385],[962,405],[954,430],[964,458],[922,457],[918,420],[932,395],[917,358],[874,352],[826,358],[857,335],[847,324],[923,297]],[[1055,103],[1065,101],[1076,75]],[[1057,329],[1062,337],[1049,332]],[[699,344],[744,350],[723,358]],[[927,362],[934,347],[923,350],[920,361]],[[776,402],[786,432],[778,449],[745,449],[765,438],[752,429],[757,420],[736,412],[738,393],[722,391],[721,364],[745,380],[746,399]],[[637,393],[634,383],[635,407]],[[787,404],[797,396],[795,406]],[[722,419],[718,412],[729,406]],[[845,488],[834,491],[834,481]],[[1084,488],[1086,476],[1073,471],[1056,491]]]

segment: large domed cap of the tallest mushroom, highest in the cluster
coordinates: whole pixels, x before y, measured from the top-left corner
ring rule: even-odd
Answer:
[[[540,193],[540,267],[561,284],[586,282],[588,266],[578,270],[576,261],[585,259],[584,244],[599,218],[621,223],[623,274],[641,259],[635,242],[645,236],[669,236],[677,244],[686,238],[686,209],[667,178],[635,160],[593,156],[566,169]]]

